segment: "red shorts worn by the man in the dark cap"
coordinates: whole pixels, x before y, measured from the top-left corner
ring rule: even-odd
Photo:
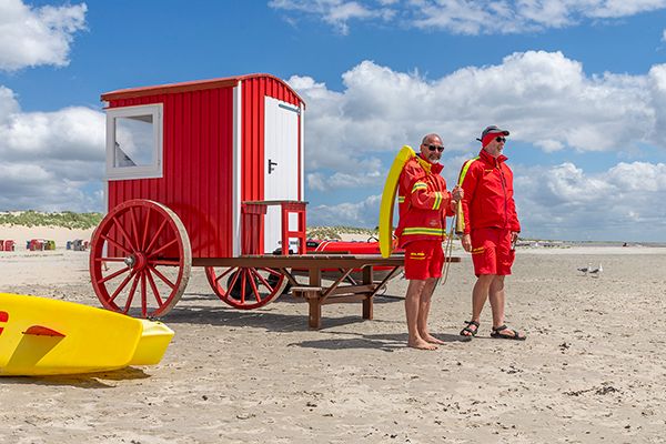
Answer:
[[[511,231],[505,229],[472,230],[474,274],[511,274],[516,251],[511,248]]]

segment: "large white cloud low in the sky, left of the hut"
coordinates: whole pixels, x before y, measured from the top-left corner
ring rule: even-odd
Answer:
[[[104,131],[99,111],[27,113],[0,87],[0,209],[100,211]]]

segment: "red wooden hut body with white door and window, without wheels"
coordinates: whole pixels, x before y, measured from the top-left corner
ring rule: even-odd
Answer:
[[[194,258],[241,253],[242,202],[303,200],[305,103],[273,75],[132,88],[102,100],[108,208],[131,199],[167,205],[196,233]],[[280,215],[268,209],[262,252],[281,248]]]

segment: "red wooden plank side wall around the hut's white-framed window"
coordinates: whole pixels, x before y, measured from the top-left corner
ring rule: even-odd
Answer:
[[[163,176],[109,181],[109,209],[130,199],[169,206],[193,258],[232,256],[233,89],[119,99],[110,108],[163,103]]]

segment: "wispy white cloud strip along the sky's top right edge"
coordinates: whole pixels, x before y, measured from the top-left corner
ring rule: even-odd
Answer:
[[[585,20],[618,19],[666,8],[666,0],[272,0],[269,6],[296,16],[314,16],[342,33],[353,19],[394,22],[460,34],[525,33],[565,28]]]

